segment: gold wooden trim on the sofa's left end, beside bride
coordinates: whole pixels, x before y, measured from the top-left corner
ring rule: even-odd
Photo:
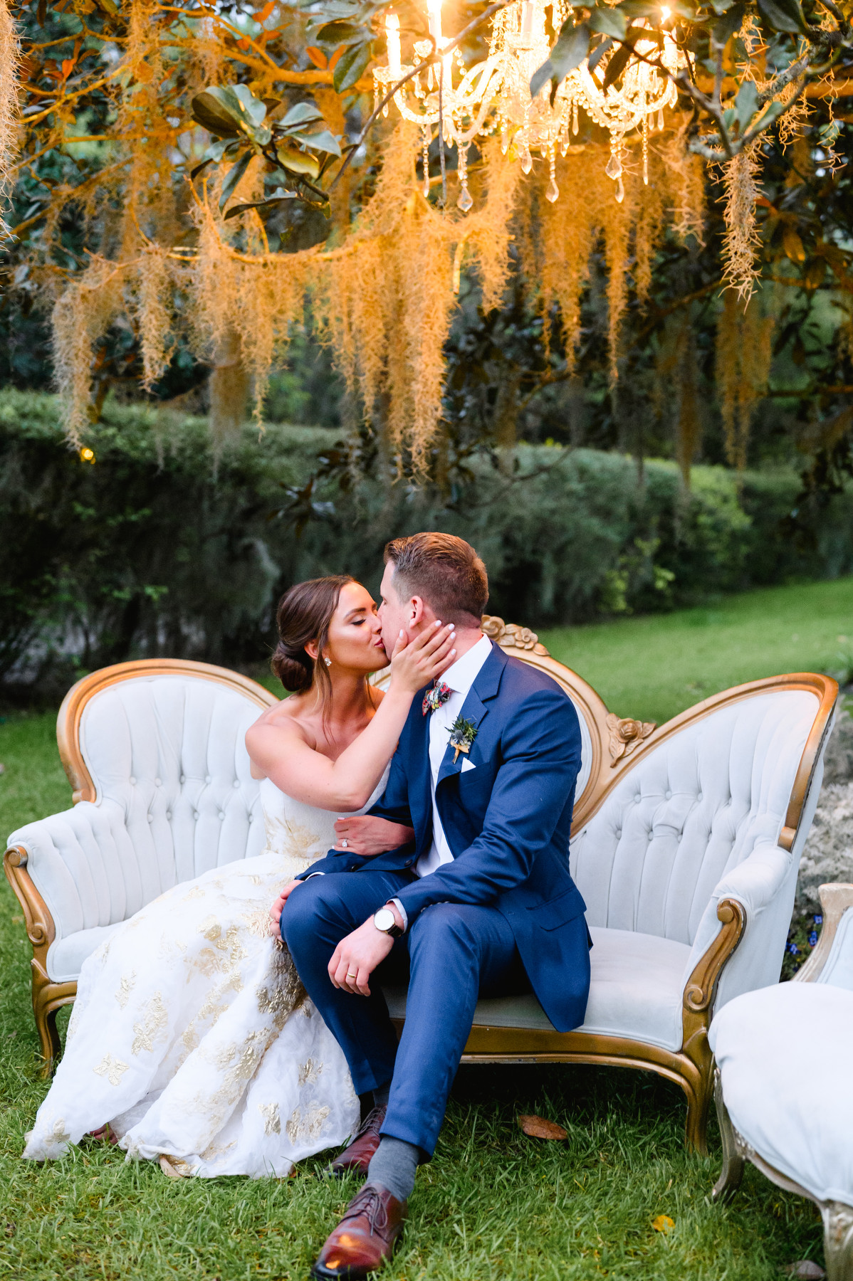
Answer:
[[[119,662],[115,666],[93,671],[68,690],[56,717],[59,756],[73,789],[74,804],[78,801],[97,801],[96,781],[88,771],[79,740],[86,705],[96,694],[119,681],[161,675],[196,676],[200,680],[228,685],[257,703],[260,711],[278,702],[274,694],[247,676],[241,676],[237,671],[228,671],[225,667],[214,667],[206,662],[147,658],[138,662]],[[47,974],[47,949],[56,938],[56,926],[27,870],[27,851],[23,845],[13,845],[6,849],[3,870],[20,903],[27,936],[32,943],[32,1008],[41,1054],[45,1061],[44,1075],[49,1076],[60,1054],[56,1013],[61,1006],[67,1006],[74,999],[77,984],[73,981],[54,983]]]

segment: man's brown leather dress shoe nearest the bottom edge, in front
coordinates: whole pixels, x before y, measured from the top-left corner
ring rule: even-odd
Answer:
[[[406,1202],[379,1184],[365,1184],[320,1250],[311,1276],[361,1281],[394,1253],[405,1218]]]

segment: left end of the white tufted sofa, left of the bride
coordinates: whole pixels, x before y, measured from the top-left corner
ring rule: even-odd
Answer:
[[[273,702],[237,673],[169,660],[105,667],[68,693],[58,738],[76,803],[14,831],[5,857],[47,1067],[56,1011],[99,943],[178,881],[261,852],[243,738]]]

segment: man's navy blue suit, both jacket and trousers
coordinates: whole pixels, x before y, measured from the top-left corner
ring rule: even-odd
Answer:
[[[332,851],[309,869],[311,879],[282,912],[282,935],[347,1057],[356,1091],[393,1076],[382,1132],[416,1144],[425,1157],[478,995],[533,986],[555,1027],[569,1031],[583,1022],[589,993],[585,904],[569,872],[580,769],[571,701],[549,676],[493,646],[461,715],[476,737],[457,761],[448,746],[435,787],[453,861],[421,879],[412,870],[433,838],[429,716],[418,696],[386,792],[370,811],[414,828],[415,842],[373,858]],[[334,948],[389,898],[403,904],[406,934],[373,976],[369,998],[341,991],[327,970]],[[406,958],[397,1048],[377,979]]]

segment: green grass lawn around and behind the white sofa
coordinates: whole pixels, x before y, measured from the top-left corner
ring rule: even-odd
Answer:
[[[523,620],[520,620],[523,621]],[[853,638],[853,582],[752,592],[713,610],[564,628],[543,637],[621,715],[662,721],[726,685],[839,666]],[[0,722],[0,830],[65,808],[53,715]],[[46,1085],[37,1075],[29,945],[0,890],[0,1278],[304,1278],[353,1185],[318,1177],[168,1180],[100,1144],[37,1167],[19,1159]],[[807,1062],[808,1047],[803,1047]],[[804,1070],[792,1065],[792,1071]],[[520,1112],[569,1131],[525,1138]],[[822,1261],[811,1203],[749,1167],[729,1208],[711,1204],[719,1170],[684,1149],[684,1104],[649,1073],[588,1067],[464,1067],[432,1166],[420,1171],[403,1249],[388,1281],[560,1278],[777,1281]],[[667,1214],[662,1235],[652,1220]]]

